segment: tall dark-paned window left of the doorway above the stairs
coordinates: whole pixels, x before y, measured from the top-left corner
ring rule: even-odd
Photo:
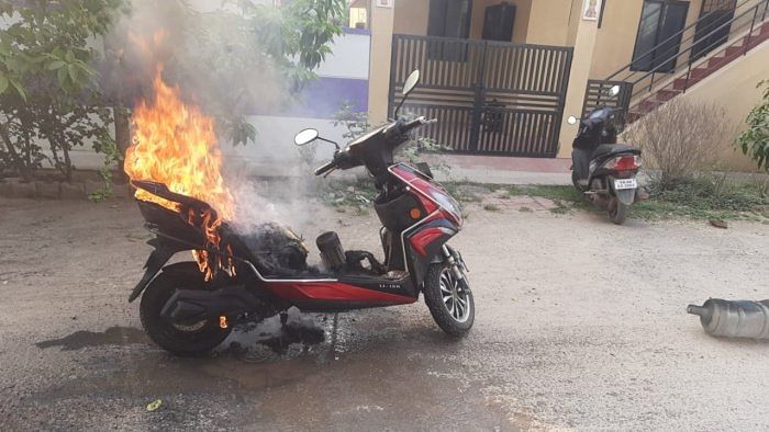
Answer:
[[[689,2],[645,0],[631,70],[672,72]]]

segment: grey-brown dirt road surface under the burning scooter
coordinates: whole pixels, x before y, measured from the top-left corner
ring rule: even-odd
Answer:
[[[312,212],[305,238],[379,251],[374,215]],[[0,198],[2,429],[769,429],[769,342],[710,338],[684,312],[769,298],[767,225],[476,205],[453,242],[476,295],[466,339],[420,302],[311,316],[324,340],[282,352],[239,331],[198,360],[152,344],[127,303],[146,239],[130,201]]]

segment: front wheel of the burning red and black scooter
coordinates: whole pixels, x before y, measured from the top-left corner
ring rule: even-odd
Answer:
[[[442,276],[444,277],[443,282]],[[447,286],[452,284],[454,286]],[[427,276],[424,281],[424,300],[435,323],[453,337],[465,336],[476,319],[472,292],[465,289],[464,286],[462,283],[456,281],[454,270],[447,263],[431,264],[427,269]],[[452,298],[444,302],[445,296]],[[466,309],[460,314],[459,308],[462,305]]]

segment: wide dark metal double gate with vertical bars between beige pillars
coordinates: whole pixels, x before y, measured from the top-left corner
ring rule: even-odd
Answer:
[[[438,118],[424,136],[456,152],[551,158],[558,152],[572,48],[397,34],[389,113],[403,82],[420,86],[402,111]]]

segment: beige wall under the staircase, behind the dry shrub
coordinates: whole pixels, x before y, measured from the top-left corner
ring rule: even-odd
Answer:
[[[769,77],[769,43],[749,52],[737,61],[732,61],[723,69],[707,77],[679,98],[690,101],[717,103],[726,110],[724,128],[734,128],[735,137],[745,129],[745,117],[761,99],[756,84]],[[724,143],[721,162],[725,168],[750,171],[756,164],[742,151],[735,151],[733,143]]]

